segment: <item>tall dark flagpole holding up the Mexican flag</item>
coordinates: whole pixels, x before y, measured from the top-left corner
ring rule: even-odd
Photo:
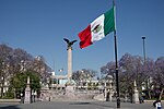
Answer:
[[[118,80],[118,62],[117,62],[116,5],[115,5],[115,0],[113,0],[113,4],[114,4],[114,17],[115,17],[114,39],[115,39],[115,61],[116,61],[116,90],[117,90],[117,108],[120,108],[120,98],[119,98],[119,80]]]

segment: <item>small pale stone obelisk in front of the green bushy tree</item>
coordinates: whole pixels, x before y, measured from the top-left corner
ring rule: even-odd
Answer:
[[[24,96],[24,104],[31,104],[30,76],[27,77],[27,83],[26,83],[26,88],[25,88],[25,96]]]

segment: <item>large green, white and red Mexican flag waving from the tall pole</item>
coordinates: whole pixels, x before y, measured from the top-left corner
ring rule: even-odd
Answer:
[[[79,33],[80,48],[87,47],[115,31],[114,7]]]

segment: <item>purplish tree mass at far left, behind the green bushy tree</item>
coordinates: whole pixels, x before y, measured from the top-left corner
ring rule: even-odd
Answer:
[[[36,64],[37,63],[37,64]],[[11,78],[14,82],[17,82],[14,87],[20,92],[24,85],[19,83],[22,80],[24,82],[24,74],[21,76],[21,73],[26,72],[37,72],[37,75],[42,81],[46,82],[46,78],[49,77],[51,69],[45,63],[44,57],[40,57],[38,61],[36,58],[27,53],[21,48],[13,49],[7,45],[0,45],[0,84],[1,84],[1,96],[3,96],[3,85],[9,82]],[[15,77],[15,78],[14,78]],[[24,80],[23,80],[24,78]],[[25,83],[25,82],[24,82]],[[9,83],[12,84],[12,83]],[[8,84],[8,85],[9,85]],[[14,84],[13,84],[14,85]],[[13,88],[10,87],[9,90]]]

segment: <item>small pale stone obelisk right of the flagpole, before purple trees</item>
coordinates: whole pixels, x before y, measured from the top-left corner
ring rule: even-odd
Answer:
[[[133,82],[133,96],[132,96],[132,102],[133,104],[139,104],[139,92],[137,89],[137,84],[136,84],[136,81]]]

